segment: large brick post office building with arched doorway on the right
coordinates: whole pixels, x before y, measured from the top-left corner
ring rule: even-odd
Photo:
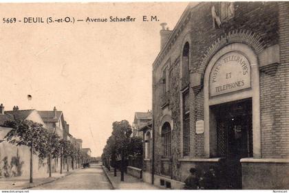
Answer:
[[[215,166],[220,188],[289,188],[289,3],[190,3],[162,27],[144,181]]]

